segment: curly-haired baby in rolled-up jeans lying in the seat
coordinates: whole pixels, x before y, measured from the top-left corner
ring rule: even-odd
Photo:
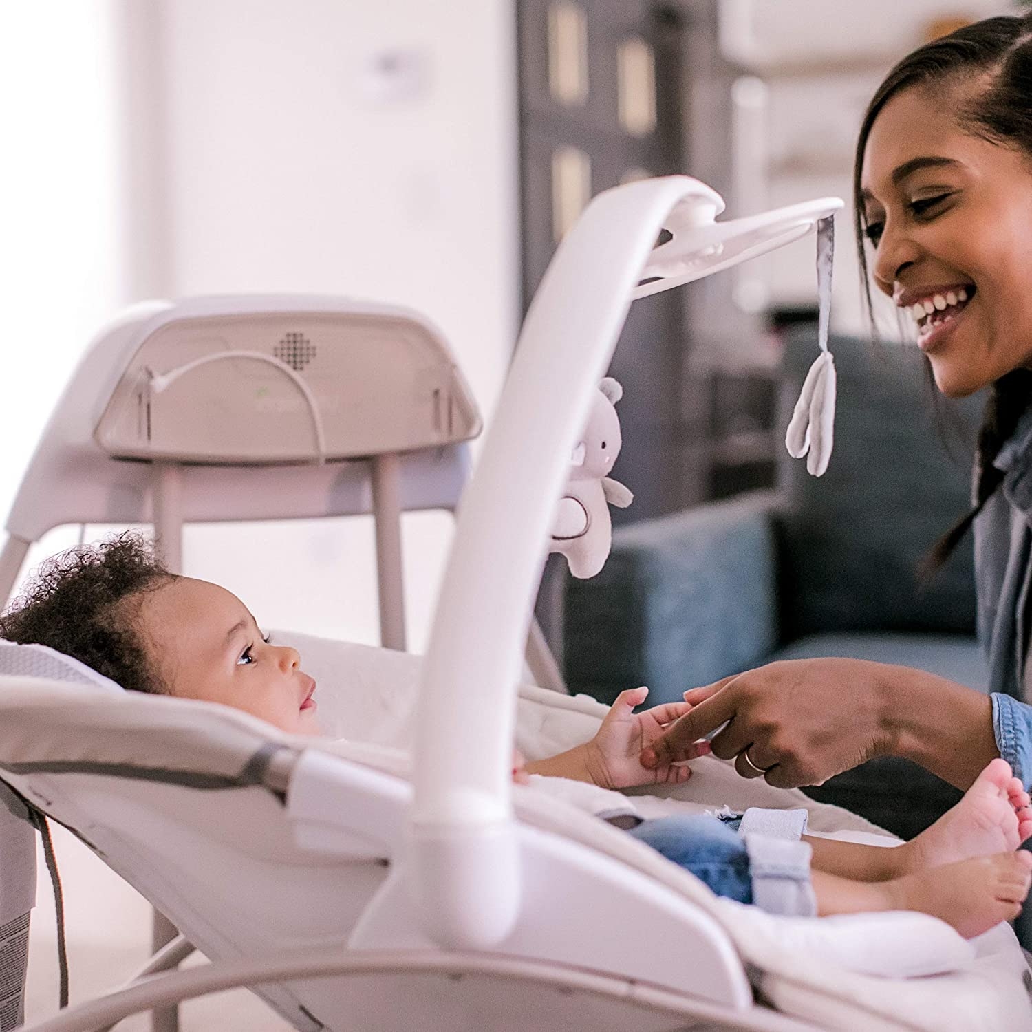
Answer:
[[[47,645],[124,688],[222,703],[293,734],[320,734],[316,682],[297,651],[271,642],[225,588],[169,574],[136,535],[50,559],[0,616],[0,638]],[[687,708],[672,703],[635,713],[646,695],[622,692],[591,741],[519,766],[518,778],[540,775],[529,780],[568,798],[572,781],[584,782],[588,801],[581,805],[600,815],[620,811],[607,819],[742,903],[819,915],[920,910],[967,937],[1019,913],[1032,856],[1018,846],[1032,834],[1032,808],[1003,760],[936,824],[895,848],[800,839],[804,811],[642,819],[634,806],[614,808],[592,794],[690,776],[685,766],[641,766],[641,750]],[[700,743],[698,753],[706,751]],[[789,825],[793,814],[799,818],[787,839],[771,833],[786,814]]]

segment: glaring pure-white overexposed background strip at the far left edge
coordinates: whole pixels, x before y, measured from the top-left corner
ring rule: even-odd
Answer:
[[[109,0],[0,5],[0,522],[85,341],[125,301],[116,46]]]

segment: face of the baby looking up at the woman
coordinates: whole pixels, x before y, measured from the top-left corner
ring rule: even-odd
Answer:
[[[262,638],[247,606],[218,584],[180,577],[138,612],[146,646],[173,696],[222,703],[295,735],[317,735],[316,682],[296,649]]]

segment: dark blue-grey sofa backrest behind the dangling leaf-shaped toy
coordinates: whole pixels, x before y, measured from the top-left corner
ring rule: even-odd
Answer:
[[[783,637],[826,631],[974,628],[971,539],[924,589],[915,563],[968,509],[981,394],[935,392],[916,348],[851,337],[831,342],[838,370],[835,452],[824,477],[779,449]],[[779,426],[786,425],[817,354],[815,328],[788,337]],[[952,458],[936,425],[962,430]]]

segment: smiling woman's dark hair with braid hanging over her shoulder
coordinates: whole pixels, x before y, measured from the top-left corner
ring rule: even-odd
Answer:
[[[983,82],[982,82],[983,80]],[[912,87],[969,87],[960,104],[960,127],[982,139],[1015,148],[1032,159],[1032,14],[989,18],[965,26],[908,54],[885,76],[864,114],[853,162],[853,225],[867,313],[873,325],[874,307],[868,279],[866,229],[861,201],[864,152],[874,120],[897,94]],[[993,460],[1013,433],[1029,404],[1032,378],[1024,369],[1007,374],[991,388],[978,433],[975,457],[974,508],[933,547],[924,563],[933,573],[949,557],[974,518],[1003,482]]]

